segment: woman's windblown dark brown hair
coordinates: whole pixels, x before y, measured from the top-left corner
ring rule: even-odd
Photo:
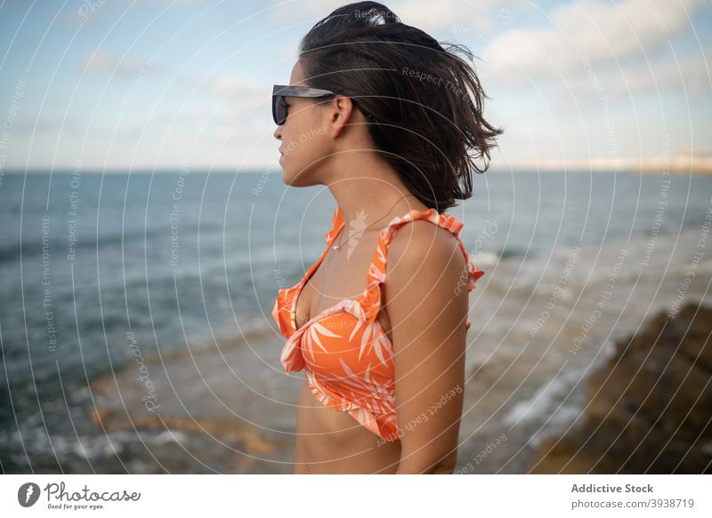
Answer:
[[[471,170],[487,170],[502,130],[482,116],[486,96],[465,46],[439,44],[384,4],[357,2],[318,21],[299,59],[306,84],[352,98],[374,147],[421,202],[441,213],[472,196]]]

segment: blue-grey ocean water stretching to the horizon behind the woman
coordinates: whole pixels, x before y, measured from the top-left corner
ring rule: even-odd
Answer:
[[[568,291],[605,283],[621,248],[643,255],[627,261],[637,267],[619,286],[682,279],[712,210],[712,176],[488,171],[474,184],[473,198],[448,213],[465,223],[465,248],[485,272],[471,294],[471,333],[497,347],[473,349],[470,365],[506,357],[501,337],[537,325],[497,305],[538,308],[540,320],[561,281],[552,265],[571,250],[585,252]],[[91,434],[91,423],[68,419],[73,406],[88,404],[88,383],[135,347],[150,356],[247,333],[279,337],[274,298],[319,257],[334,208],[326,187],[287,187],[260,172],[2,177],[0,459],[19,445],[32,458],[43,436],[55,438],[58,458],[62,438]],[[626,303],[645,313],[649,302]],[[548,411],[538,406],[522,402],[507,419]]]

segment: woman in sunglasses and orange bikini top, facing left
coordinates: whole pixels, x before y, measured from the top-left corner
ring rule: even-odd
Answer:
[[[489,159],[500,132],[483,99],[465,60],[376,2],[320,20],[275,85],[282,179],[337,205],[320,259],[272,312],[285,371],[306,375],[295,473],[452,473],[483,272],[442,212],[486,169],[468,150]]]

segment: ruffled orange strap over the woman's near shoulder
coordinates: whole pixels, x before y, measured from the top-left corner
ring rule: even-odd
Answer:
[[[410,211],[405,216],[393,218],[388,226],[381,230],[379,235],[376,253],[374,254],[374,259],[371,261],[371,266],[368,268],[366,297],[362,303],[367,320],[369,321],[376,319],[376,315],[378,315],[381,309],[381,284],[385,281],[385,262],[393,236],[400,227],[415,219],[427,219],[439,227],[446,228],[457,237],[457,243],[465,256],[465,263],[467,265],[467,291],[473,291],[475,281],[484,275],[484,272],[474,265],[465,250],[465,245],[460,240],[460,231],[463,227],[463,223],[460,220],[449,214],[439,214],[435,209]],[[462,286],[462,288],[464,287],[465,285]],[[467,324],[469,328],[469,321]]]

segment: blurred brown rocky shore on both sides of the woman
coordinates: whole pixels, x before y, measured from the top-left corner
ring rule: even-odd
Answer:
[[[591,337],[572,358],[578,319],[535,339],[510,329],[506,354],[473,335],[456,473],[709,473],[712,309],[631,310],[619,317],[640,331]],[[281,345],[273,333],[217,339],[95,379],[91,419],[111,443],[98,472],[291,473],[302,373],[284,374]]]

